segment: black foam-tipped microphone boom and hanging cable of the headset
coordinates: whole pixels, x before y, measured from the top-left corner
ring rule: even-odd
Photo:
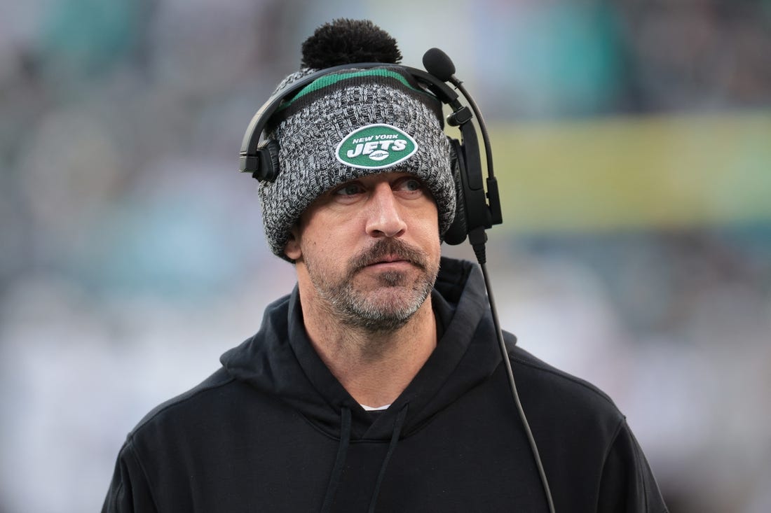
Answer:
[[[482,211],[483,216],[475,216],[475,213],[479,213],[479,200],[477,199],[475,206],[470,203],[470,196],[466,196],[466,194],[471,193],[473,196],[478,198],[480,196],[481,183],[468,183],[473,182],[473,178],[475,178],[475,176],[473,176],[473,169],[469,169],[467,173],[469,175],[468,178],[465,174],[462,173],[461,178],[463,179],[462,181],[464,191],[463,200],[465,200],[466,203],[466,232],[468,233],[469,242],[471,243],[471,246],[473,246],[474,253],[476,254],[476,259],[479,260],[480,267],[482,268],[485,287],[487,288],[487,299],[490,301],[490,311],[493,315],[493,324],[495,326],[498,338],[498,347],[500,347],[501,356],[503,357],[503,364],[506,367],[507,376],[509,379],[509,387],[511,389],[514,404],[517,407],[517,413],[520,415],[520,420],[522,421],[525,434],[527,435],[527,441],[530,443],[530,451],[533,453],[533,458],[538,470],[538,474],[540,476],[540,481],[544,487],[544,495],[546,497],[549,511],[550,513],[554,513],[554,501],[551,497],[549,481],[547,480],[546,472],[544,471],[544,465],[540,460],[540,454],[538,452],[535,438],[533,437],[533,432],[530,430],[530,424],[527,422],[527,417],[525,416],[524,408],[522,407],[522,403],[520,401],[520,394],[517,392],[517,384],[514,381],[513,371],[511,370],[511,362],[509,361],[508,357],[508,351],[506,349],[506,344],[503,342],[503,331],[500,328],[500,321],[498,320],[495,299],[493,298],[493,290],[490,287],[490,276],[487,273],[487,257],[484,249],[485,243],[487,242],[487,235],[485,234],[484,230],[486,228],[490,228],[492,224],[502,222],[498,184],[495,176],[493,175],[493,152],[490,146],[490,138],[487,135],[487,126],[485,126],[485,123],[482,119],[482,114],[479,108],[476,106],[476,102],[474,102],[469,93],[466,92],[466,88],[463,87],[463,83],[456,79],[455,65],[445,52],[438,48],[429,49],[429,51],[423,55],[423,67],[425,67],[426,71],[428,71],[431,75],[435,76],[442,82],[449,82],[453,84],[453,86],[455,86],[456,89],[458,89],[461,94],[463,94],[463,97],[469,103],[474,115],[476,116],[476,122],[480,127],[480,132],[482,133],[482,140],[485,146],[485,158],[487,160],[487,199],[490,201],[490,204],[487,206],[487,202],[484,200],[484,197],[482,197],[481,204],[487,206],[487,208]],[[476,142],[476,134],[473,134],[473,137],[471,137],[472,134],[470,134],[470,130],[473,130],[473,127],[470,123],[467,123],[470,120],[470,116],[467,116],[467,112],[461,114],[463,113],[463,109],[466,108],[461,108],[460,103],[458,103],[457,100],[456,104],[450,105],[453,107],[453,113],[448,117],[447,122],[452,126],[460,125],[461,134],[463,135],[464,139],[463,146],[468,146],[468,140],[473,140]],[[470,128],[466,129],[466,127]],[[483,189],[481,189],[481,193],[484,195]],[[458,201],[460,202],[462,199],[459,197]],[[463,238],[465,238],[465,236]],[[463,240],[460,240],[460,242],[463,242]]]

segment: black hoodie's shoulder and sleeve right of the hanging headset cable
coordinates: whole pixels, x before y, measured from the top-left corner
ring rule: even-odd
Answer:
[[[508,353],[544,467],[553,474],[557,510],[584,503],[597,513],[666,513],[645,454],[608,394],[520,347],[508,344]]]

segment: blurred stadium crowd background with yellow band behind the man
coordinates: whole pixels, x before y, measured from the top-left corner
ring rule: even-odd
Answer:
[[[771,2],[25,0],[0,4],[0,512],[99,511],[126,433],[291,289],[237,153],[338,17],[406,65],[444,49],[486,115],[503,327],[613,397],[673,513],[771,511]]]

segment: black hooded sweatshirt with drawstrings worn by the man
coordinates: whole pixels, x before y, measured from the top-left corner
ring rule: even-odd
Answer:
[[[436,350],[365,411],[311,347],[298,291],[129,434],[103,511],[547,511],[480,270],[443,258]],[[556,511],[666,511],[625,417],[505,334]]]

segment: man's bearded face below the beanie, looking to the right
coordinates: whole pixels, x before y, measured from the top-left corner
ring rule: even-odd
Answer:
[[[304,302],[375,332],[401,327],[423,305],[439,271],[439,244],[436,203],[423,183],[381,173],[319,197],[285,253],[301,286],[312,285]]]

